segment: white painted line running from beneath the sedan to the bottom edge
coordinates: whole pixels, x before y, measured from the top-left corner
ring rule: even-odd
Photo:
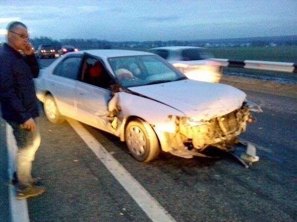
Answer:
[[[67,121],[153,222],[175,222],[175,219],[157,200],[150,196],[148,191],[120,165],[81,123],[72,119],[67,119]]]

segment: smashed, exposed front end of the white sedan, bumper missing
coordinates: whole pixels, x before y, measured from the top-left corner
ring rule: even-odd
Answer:
[[[233,149],[238,143],[238,135],[246,130],[247,123],[252,123],[250,110],[247,107],[237,109],[227,115],[213,118],[200,125],[191,125],[187,118],[177,118],[177,132],[172,136],[173,149],[194,148],[201,152],[213,146],[223,150]],[[192,152],[193,154],[193,152]]]

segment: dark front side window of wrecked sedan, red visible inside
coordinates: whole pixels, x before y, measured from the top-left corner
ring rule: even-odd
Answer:
[[[83,62],[79,80],[104,89],[109,88],[113,82],[104,65],[98,59],[90,57]]]

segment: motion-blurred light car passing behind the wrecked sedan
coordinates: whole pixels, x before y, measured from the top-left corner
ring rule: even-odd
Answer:
[[[190,79],[219,82],[222,77],[220,63],[209,60],[212,55],[205,48],[173,46],[153,48],[149,52],[168,60]]]

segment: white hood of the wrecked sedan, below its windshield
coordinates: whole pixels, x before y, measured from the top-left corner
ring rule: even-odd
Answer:
[[[178,109],[195,120],[228,114],[240,108],[246,98],[244,92],[233,86],[191,79],[130,87],[129,90]]]

